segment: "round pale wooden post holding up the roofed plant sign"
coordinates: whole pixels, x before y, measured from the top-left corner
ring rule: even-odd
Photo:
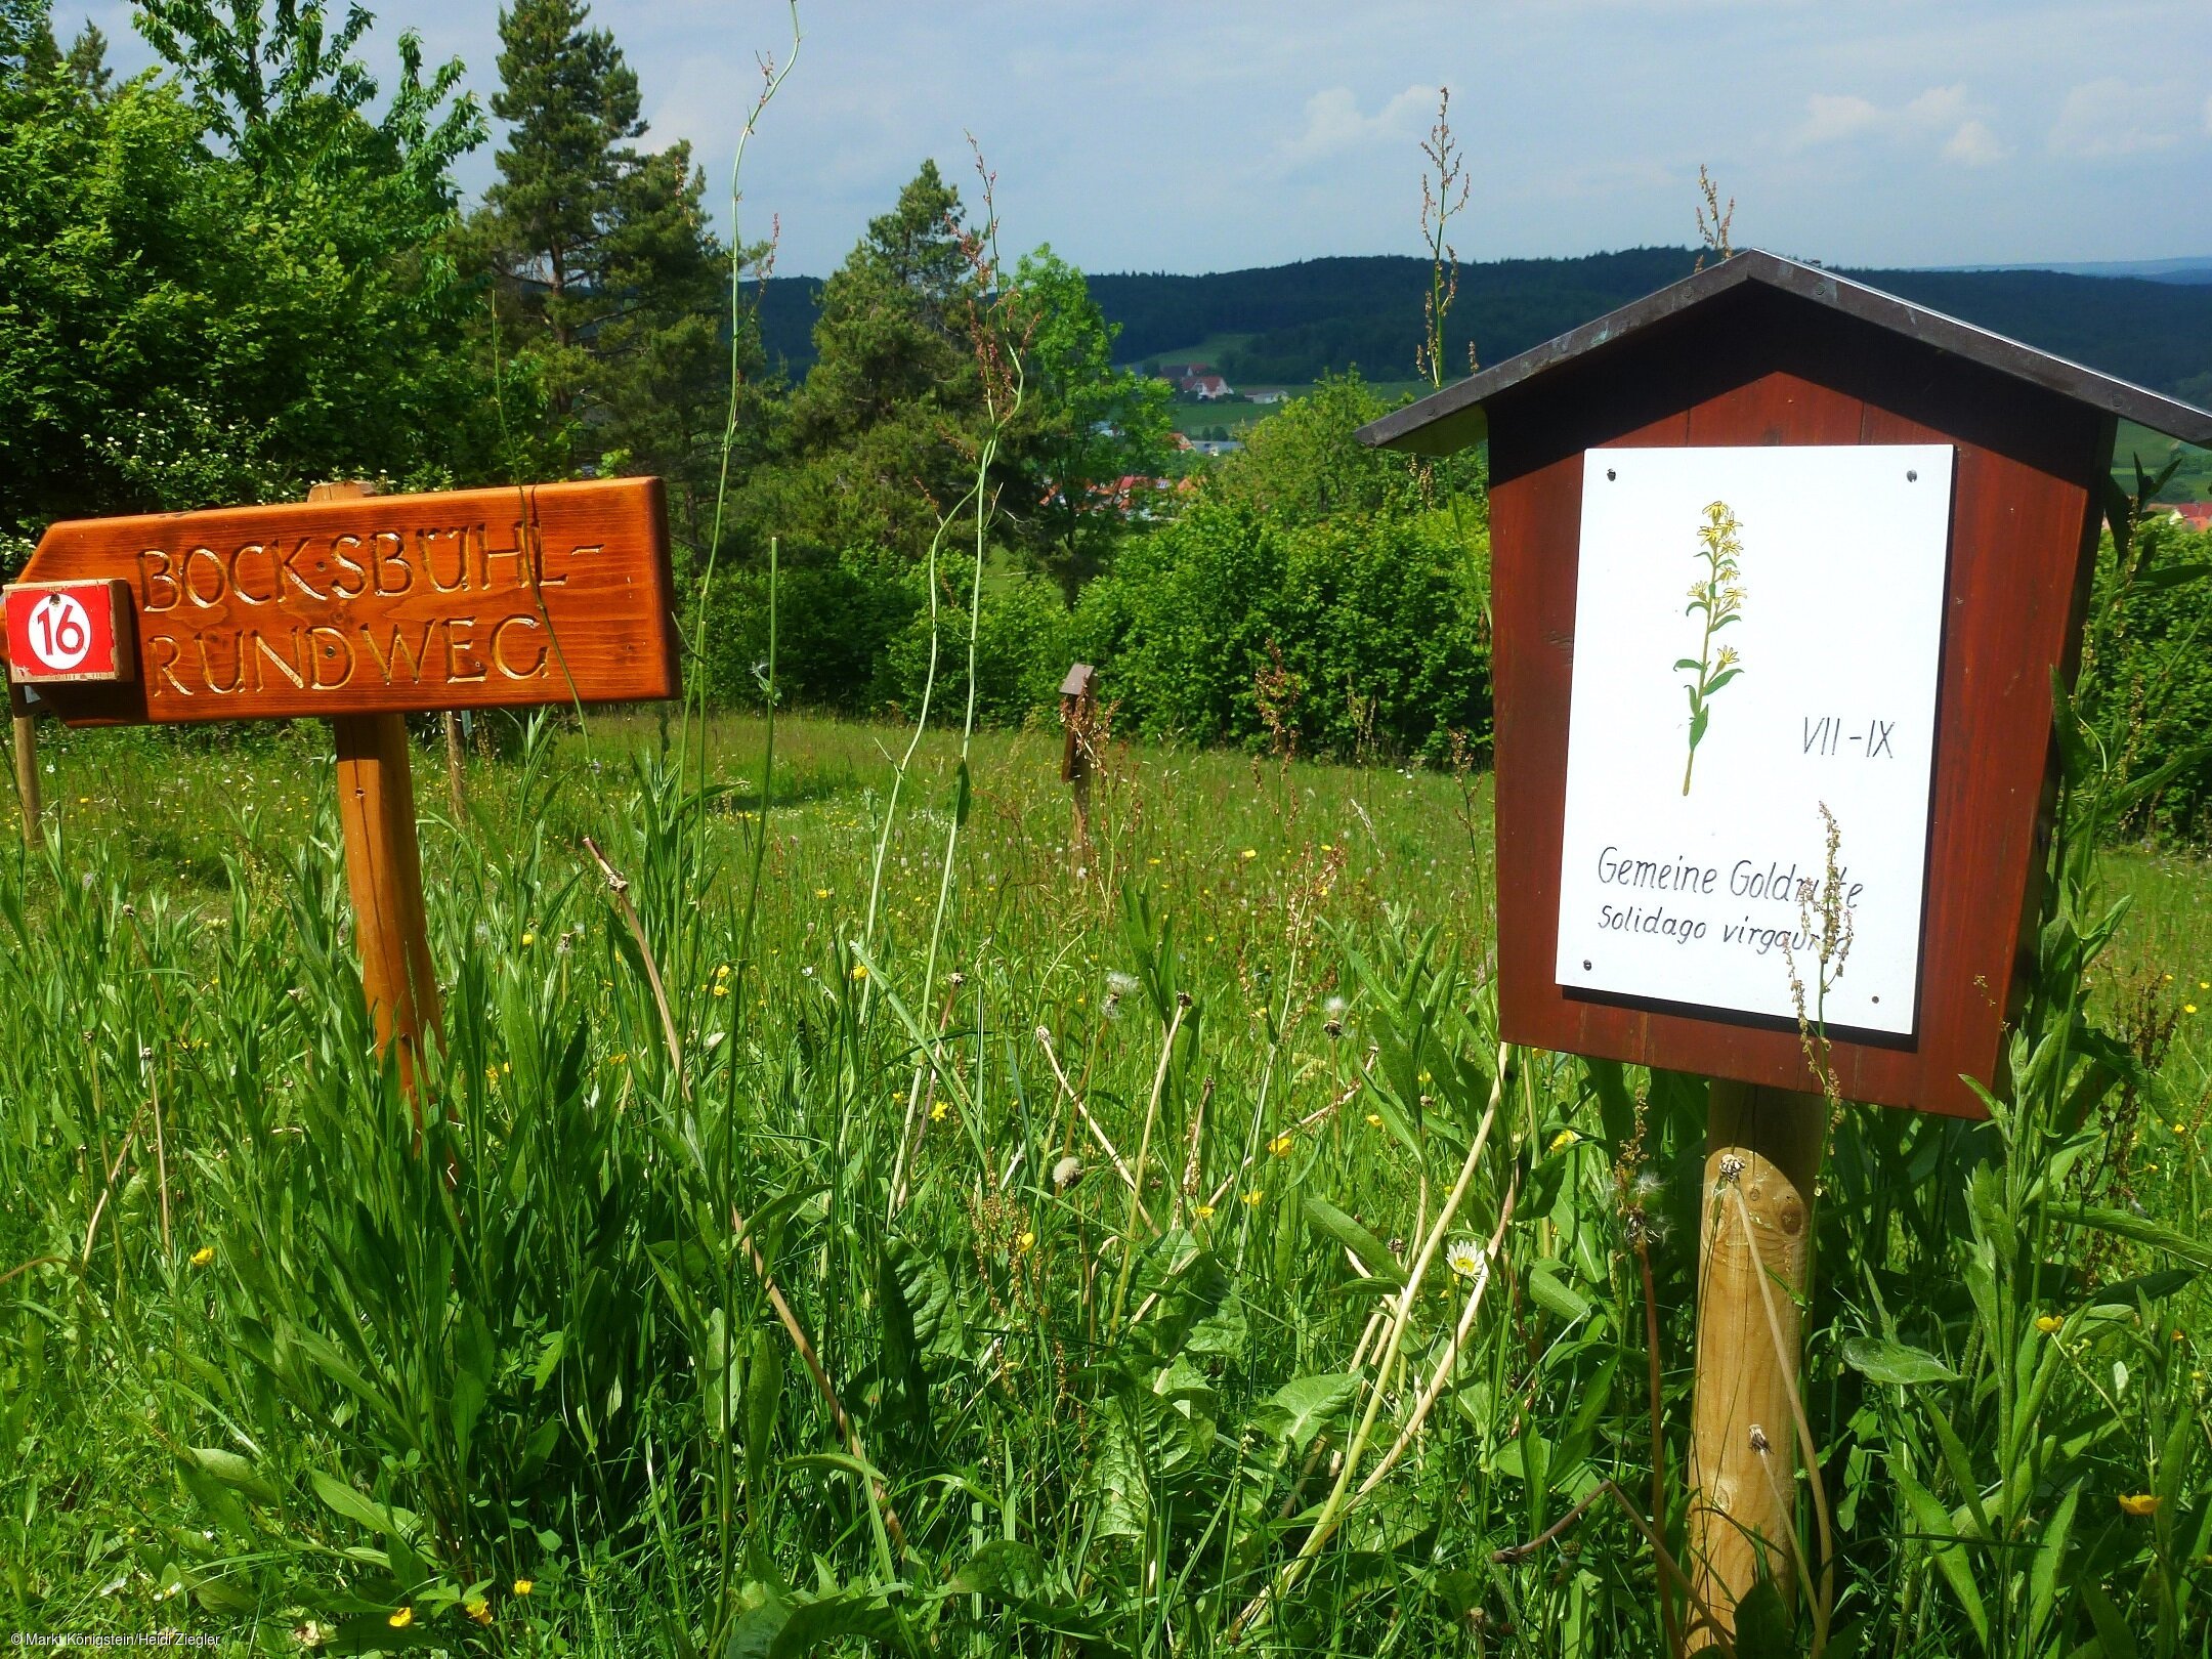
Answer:
[[[1723,1632],[1734,1630],[1734,1608],[1761,1575],[1785,1604],[1796,1584],[1796,1387],[1825,1135],[1820,1095],[1712,1079],[1690,1407],[1690,1582]],[[1690,1648],[1708,1646],[1712,1630],[1699,1626]]]

